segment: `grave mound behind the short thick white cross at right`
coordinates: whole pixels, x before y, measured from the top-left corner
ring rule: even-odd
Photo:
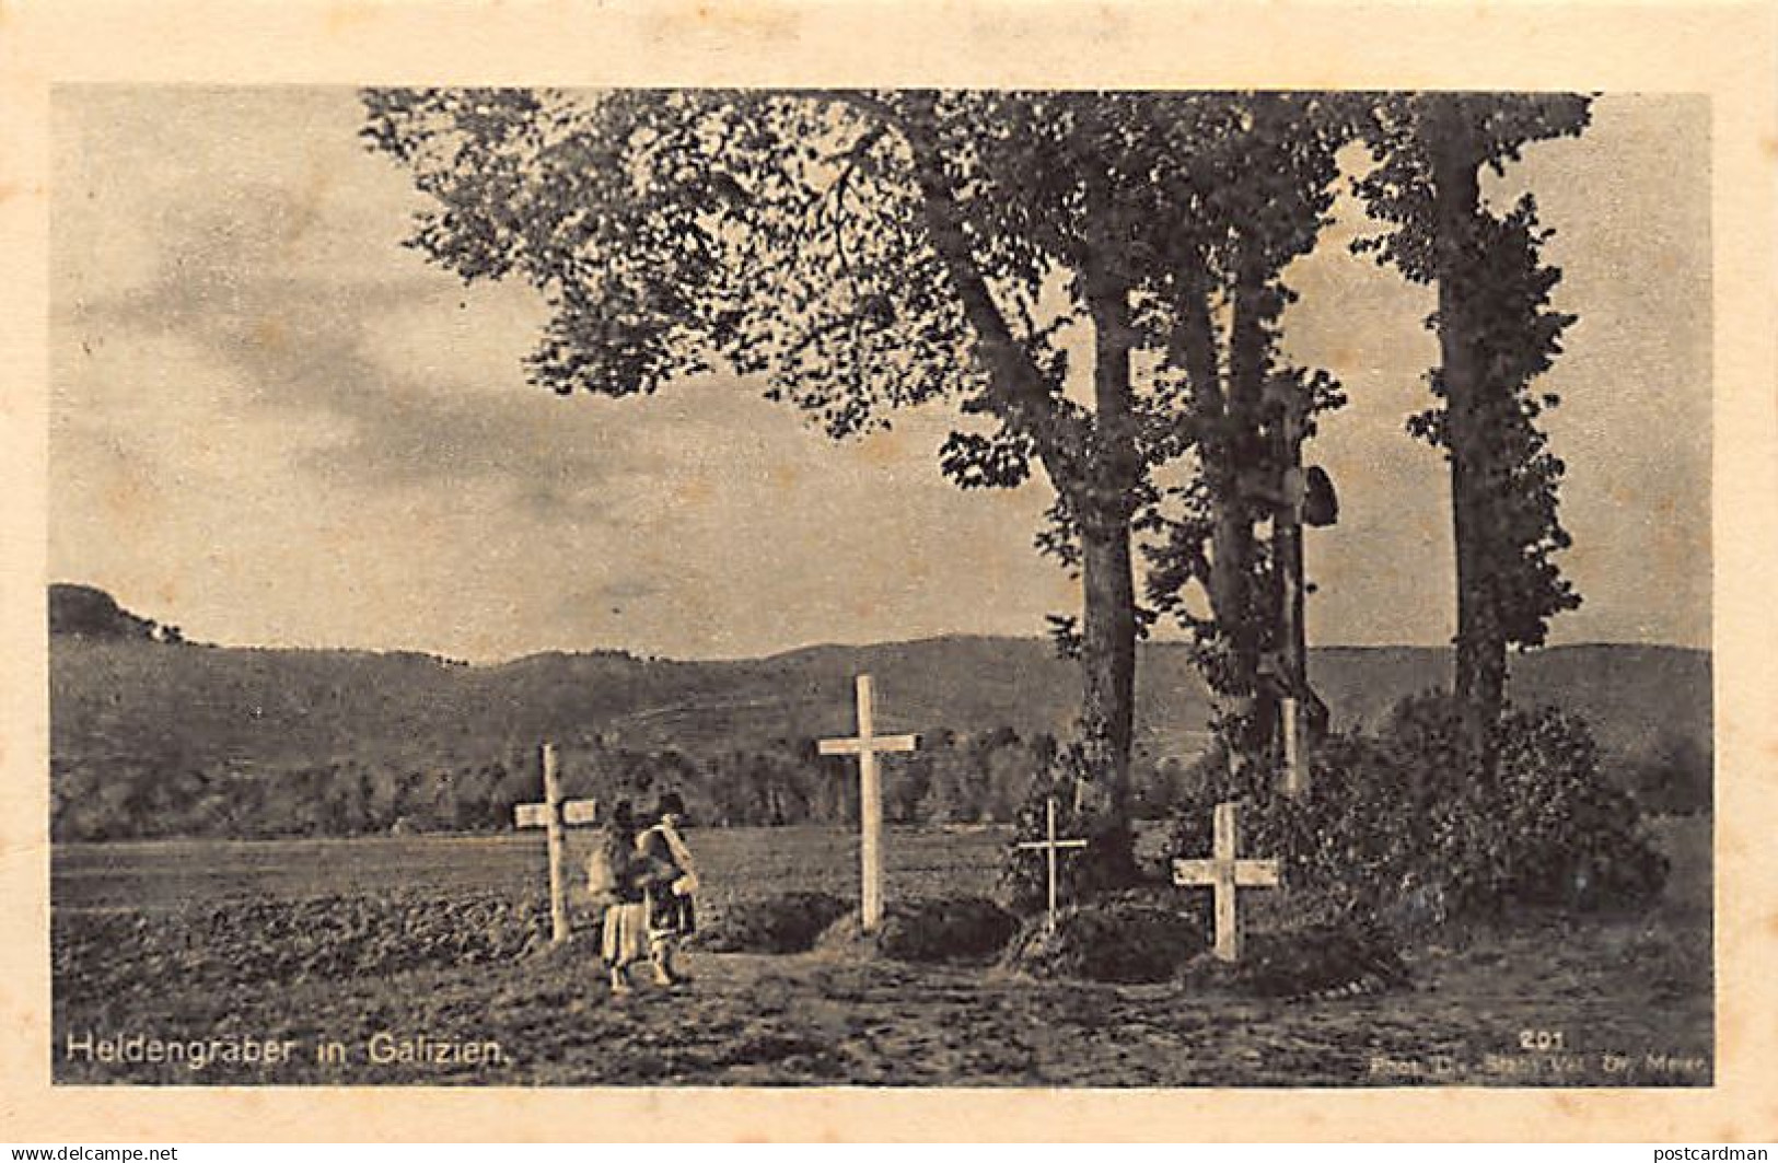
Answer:
[[[1241,960],[1230,964],[1204,953],[1181,969],[1179,980],[1253,998],[1344,998],[1412,987],[1389,932],[1339,923],[1252,934]]]

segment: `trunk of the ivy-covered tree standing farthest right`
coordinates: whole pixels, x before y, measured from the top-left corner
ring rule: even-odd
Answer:
[[[1470,267],[1481,208],[1481,149],[1462,98],[1442,98],[1430,119],[1437,219],[1438,356],[1446,389],[1446,446],[1451,453],[1451,532],[1456,542],[1456,672],[1470,745],[1486,759],[1506,699],[1506,637],[1495,608],[1495,537],[1488,496],[1488,432],[1479,395],[1481,352]],[[1485,763],[1485,766],[1492,766]]]

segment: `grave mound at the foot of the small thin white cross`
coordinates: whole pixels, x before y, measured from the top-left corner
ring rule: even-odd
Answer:
[[[1049,932],[1044,918],[1026,923],[1001,964],[1038,978],[1086,982],[1168,982],[1207,948],[1204,919],[1134,902],[1067,909]]]

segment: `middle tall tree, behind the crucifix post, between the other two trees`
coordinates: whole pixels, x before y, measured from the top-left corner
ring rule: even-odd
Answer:
[[[1166,537],[1150,551],[1149,592],[1193,631],[1220,695],[1218,727],[1252,765],[1275,749],[1282,695],[1317,706],[1284,573],[1298,564],[1301,443],[1344,397],[1326,372],[1282,356],[1280,317],[1296,299],[1284,272],[1328,224],[1337,155],[1360,108],[1344,96],[1237,94],[1193,126],[1195,229],[1173,231],[1165,283],[1175,324],[1166,357],[1189,386],[1179,423],[1195,473],[1159,509]]]

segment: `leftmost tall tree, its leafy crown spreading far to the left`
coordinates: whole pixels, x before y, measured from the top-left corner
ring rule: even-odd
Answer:
[[[464,279],[521,276],[551,320],[530,377],[654,391],[715,361],[836,437],[949,400],[964,487],[1040,469],[1040,546],[1083,583],[1081,726],[1127,823],[1133,528],[1191,434],[1177,327],[1191,94],[372,91],[366,137],[437,208],[414,245]],[[1090,345],[1083,382],[1070,352]]]

